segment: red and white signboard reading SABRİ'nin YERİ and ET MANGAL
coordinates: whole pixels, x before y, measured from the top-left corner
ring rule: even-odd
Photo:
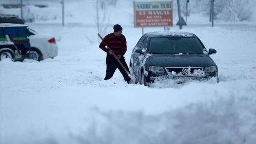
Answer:
[[[135,27],[172,27],[172,1],[134,1]]]

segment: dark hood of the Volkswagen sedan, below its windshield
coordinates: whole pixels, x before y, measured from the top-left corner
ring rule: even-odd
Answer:
[[[147,62],[161,67],[206,67],[214,64],[207,54],[152,54]]]

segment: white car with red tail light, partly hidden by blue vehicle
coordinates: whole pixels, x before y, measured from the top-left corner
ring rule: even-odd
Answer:
[[[22,25],[14,23],[0,23],[2,26],[10,25]],[[56,44],[55,38],[53,35],[43,34],[36,32],[29,28],[30,36],[30,46],[31,49],[28,51],[29,59],[34,59],[37,61],[51,58],[53,59],[58,55],[58,45]]]

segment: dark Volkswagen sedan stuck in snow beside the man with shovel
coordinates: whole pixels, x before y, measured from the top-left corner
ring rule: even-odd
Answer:
[[[150,85],[158,78],[176,80],[218,79],[218,67],[209,56],[216,50],[204,47],[201,40],[188,32],[145,33],[130,59],[130,72],[140,84]]]

